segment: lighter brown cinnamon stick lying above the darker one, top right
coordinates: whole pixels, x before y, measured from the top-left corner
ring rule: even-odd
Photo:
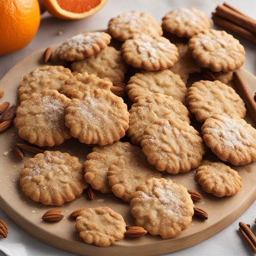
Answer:
[[[216,13],[224,19],[230,20],[238,26],[245,28],[248,31],[251,31],[252,33],[256,33],[256,20],[253,20],[246,15],[237,13],[234,10],[223,5],[217,6]]]

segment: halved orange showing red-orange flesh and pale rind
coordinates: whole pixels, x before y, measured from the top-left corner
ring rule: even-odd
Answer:
[[[84,19],[98,12],[108,0],[42,0],[49,13],[65,20]]]

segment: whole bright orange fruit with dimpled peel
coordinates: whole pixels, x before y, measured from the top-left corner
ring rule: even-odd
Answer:
[[[17,51],[36,35],[40,24],[37,0],[0,0],[0,55]]]

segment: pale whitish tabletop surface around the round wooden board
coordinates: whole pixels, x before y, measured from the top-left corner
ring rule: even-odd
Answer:
[[[0,78],[13,66],[15,63],[19,62],[35,51],[36,49],[45,48],[48,45],[61,42],[65,38],[74,35],[78,31],[86,31],[93,29],[105,29],[108,20],[119,13],[125,12],[127,10],[140,10],[148,12],[159,21],[161,17],[172,10],[173,8],[179,6],[195,7],[203,10],[207,15],[211,15],[217,4],[223,3],[223,1],[218,0],[109,0],[106,6],[96,15],[90,17],[86,20],[77,21],[64,21],[54,19],[47,13],[42,16],[42,21],[40,29],[33,41],[24,49],[8,54],[6,56],[0,57]],[[233,4],[239,10],[247,13],[251,17],[256,18],[256,1],[253,0],[243,0],[243,1],[231,1],[228,3]],[[58,36],[57,31],[63,31],[63,35]],[[239,38],[237,36],[237,38]],[[250,44],[243,38],[239,38],[241,43],[246,49],[246,62],[244,67],[246,67],[250,72],[256,74],[256,56],[255,56],[255,45]],[[10,84],[10,86],[12,86]],[[256,90],[256,87],[255,87]],[[1,181],[0,181],[1,186]],[[221,212],[220,212],[221,214]],[[244,214],[234,221],[232,225],[222,230],[216,236],[207,239],[206,241],[197,244],[186,250],[180,252],[172,253],[174,256],[181,255],[253,255],[248,246],[241,240],[241,236],[237,232],[238,221],[245,221],[253,225],[253,220],[256,217],[256,203],[252,204],[251,207],[244,212]],[[0,256],[2,256],[3,251],[6,255],[12,256],[27,256],[27,255],[51,255],[51,256],[71,256],[72,254],[58,250],[52,246],[41,243],[34,237],[29,236],[26,232],[15,225],[11,220],[9,220],[3,212],[0,210],[0,218],[3,218],[8,223],[10,228],[10,233],[8,239],[1,239],[0,241]],[[255,226],[253,226],[255,228]],[[4,255],[4,254],[3,254]]]

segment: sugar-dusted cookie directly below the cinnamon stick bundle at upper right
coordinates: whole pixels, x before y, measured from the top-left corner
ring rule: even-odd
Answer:
[[[205,30],[189,40],[188,49],[200,67],[214,72],[236,70],[245,60],[243,45],[225,31]]]

